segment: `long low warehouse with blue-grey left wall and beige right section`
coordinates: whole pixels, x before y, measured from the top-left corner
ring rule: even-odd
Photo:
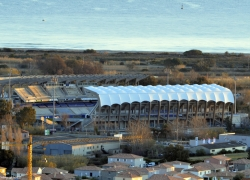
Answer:
[[[45,146],[46,150],[44,154],[46,155],[84,155],[92,156],[96,151],[108,152],[109,149],[120,148],[120,142],[118,140],[114,141],[102,141],[102,142],[75,142],[75,143],[56,143],[48,144]]]

